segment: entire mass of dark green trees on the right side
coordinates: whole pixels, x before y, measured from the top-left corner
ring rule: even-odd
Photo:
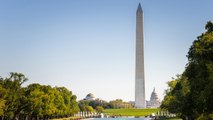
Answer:
[[[189,49],[183,74],[168,82],[161,105],[188,119],[213,119],[213,23],[208,21],[205,28]]]

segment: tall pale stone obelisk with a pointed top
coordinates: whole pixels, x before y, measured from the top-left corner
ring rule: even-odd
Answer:
[[[143,11],[139,3],[136,12],[135,107],[145,108]]]

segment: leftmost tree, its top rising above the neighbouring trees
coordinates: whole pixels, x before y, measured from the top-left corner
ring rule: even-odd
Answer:
[[[18,119],[23,109],[28,106],[24,89],[21,87],[27,80],[23,74],[13,72],[10,73],[8,78],[1,80],[1,91],[6,91],[1,95],[3,98],[1,103],[4,103],[2,111],[5,118]]]

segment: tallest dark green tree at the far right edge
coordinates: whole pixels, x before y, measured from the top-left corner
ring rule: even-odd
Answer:
[[[190,96],[194,118],[200,114],[209,115],[213,112],[213,24],[206,24],[206,33],[203,33],[193,42],[188,52],[188,66],[185,76],[190,85]]]

